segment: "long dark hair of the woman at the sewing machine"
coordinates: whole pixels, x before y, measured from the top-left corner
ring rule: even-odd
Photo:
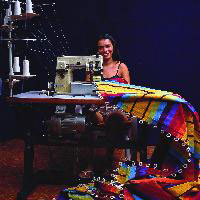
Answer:
[[[113,55],[112,55],[112,58],[113,60],[115,61],[119,61],[120,60],[120,55],[119,55],[119,49],[118,49],[118,46],[117,46],[117,43],[116,41],[114,40],[114,38],[109,35],[109,34],[104,34],[104,35],[100,35],[98,38],[97,38],[97,41],[96,41],[96,52],[98,51],[98,46],[97,46],[97,43],[99,40],[102,40],[102,39],[109,39],[113,45]]]

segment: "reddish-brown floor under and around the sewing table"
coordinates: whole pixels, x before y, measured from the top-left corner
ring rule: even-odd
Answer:
[[[153,148],[149,148],[148,155]],[[77,152],[80,159],[77,160]],[[14,200],[22,185],[24,142],[13,139],[0,143],[0,200]],[[99,163],[101,154],[99,153]],[[115,155],[117,156],[117,154]],[[64,182],[74,181],[80,168],[84,168],[86,154],[74,147],[48,147],[35,146],[34,171],[47,170],[51,173],[47,176],[54,184],[40,184],[29,195],[28,200],[52,200],[65,188]],[[81,159],[82,158],[82,159]],[[58,173],[60,172],[60,173]],[[60,182],[60,183],[59,183]]]

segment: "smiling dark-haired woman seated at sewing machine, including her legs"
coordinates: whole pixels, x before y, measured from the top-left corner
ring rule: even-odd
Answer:
[[[120,83],[130,84],[128,67],[120,61],[117,44],[112,36],[105,34],[98,38],[97,52],[103,56],[103,81],[114,80]],[[89,73],[86,74],[86,81],[91,81]],[[125,113],[120,111],[113,111],[112,114],[105,115],[105,113],[97,110],[97,112],[93,112],[91,118],[93,119],[93,122],[105,125],[107,139],[111,143],[114,141],[116,142],[116,140],[120,141],[120,139],[123,137],[123,129],[125,127],[124,125],[128,120]],[[107,149],[107,173],[109,173],[109,171],[112,169],[113,150],[113,148]],[[90,160],[93,161],[93,159]],[[79,176],[82,178],[90,178],[92,175],[92,163],[89,163],[87,170],[84,170],[79,174]]]

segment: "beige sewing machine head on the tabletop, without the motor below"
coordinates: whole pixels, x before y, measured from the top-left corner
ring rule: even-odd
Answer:
[[[101,81],[103,70],[103,57],[101,55],[92,56],[63,56],[57,58],[55,92],[71,93],[74,85],[73,70],[85,68],[90,73],[93,82]],[[72,86],[73,85],[73,86]],[[87,84],[79,84],[85,87]],[[77,88],[77,87],[76,87]],[[82,90],[84,91],[84,90]]]

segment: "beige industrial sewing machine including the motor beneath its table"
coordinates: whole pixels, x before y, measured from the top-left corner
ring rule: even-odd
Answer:
[[[84,68],[90,74],[92,82],[73,82],[73,71]],[[95,82],[101,81],[103,70],[103,57],[92,56],[62,56],[57,58],[56,77],[53,97],[79,99],[99,99],[95,90]],[[74,112],[68,111],[67,104],[58,104],[51,119],[47,121],[48,132],[58,134],[60,137],[67,132],[80,134],[85,131],[86,116],[82,114],[82,107],[78,101]],[[89,102],[89,101],[85,101]],[[90,103],[91,104],[91,103]],[[55,128],[57,127],[57,129]]]

